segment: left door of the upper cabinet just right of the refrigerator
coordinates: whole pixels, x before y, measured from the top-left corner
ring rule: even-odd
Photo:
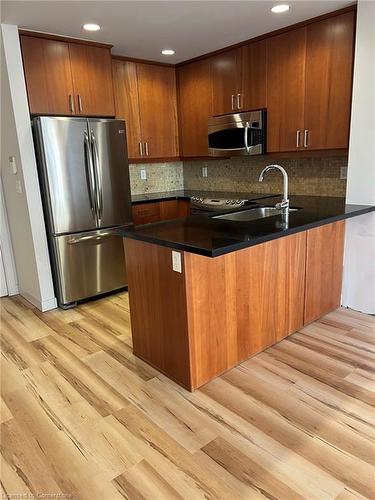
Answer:
[[[116,118],[125,120],[129,158],[139,158],[141,146],[141,122],[136,64],[129,61],[113,60],[113,86],[115,94]]]

